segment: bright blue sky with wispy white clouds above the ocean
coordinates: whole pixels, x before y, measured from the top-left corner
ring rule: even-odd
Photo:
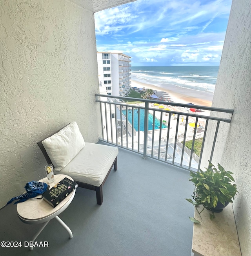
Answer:
[[[231,0],[137,0],[95,13],[97,51],[132,66],[218,66]]]

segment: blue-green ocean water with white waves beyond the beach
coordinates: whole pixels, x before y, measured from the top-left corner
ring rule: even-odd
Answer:
[[[214,93],[219,66],[131,67],[131,79],[168,88],[182,88]]]

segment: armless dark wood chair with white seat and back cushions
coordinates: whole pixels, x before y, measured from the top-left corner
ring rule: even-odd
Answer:
[[[113,166],[117,170],[117,147],[85,143],[76,122],[37,144],[47,163],[53,165],[54,174],[69,175],[78,187],[95,190],[97,204],[102,204],[105,180]]]

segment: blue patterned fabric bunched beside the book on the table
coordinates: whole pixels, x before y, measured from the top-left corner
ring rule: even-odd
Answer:
[[[16,203],[24,202],[29,198],[36,197],[40,194],[43,194],[47,190],[47,187],[48,187],[48,185],[44,182],[30,181],[30,182],[26,183],[26,185],[24,187],[27,192],[20,196],[11,198],[11,200],[9,200],[7,202],[7,204],[12,203],[14,200],[19,199],[19,201],[14,203],[14,205],[15,205]]]

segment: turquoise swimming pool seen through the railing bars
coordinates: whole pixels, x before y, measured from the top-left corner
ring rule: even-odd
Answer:
[[[138,108],[133,110],[133,127],[138,132]],[[122,110],[123,115],[126,116],[126,110]],[[128,122],[132,123],[132,111],[128,110]],[[140,131],[144,131],[144,121],[145,121],[145,110],[140,109]],[[160,128],[160,120],[155,118],[154,129]],[[167,125],[162,123],[162,128],[167,128]],[[148,113],[148,130],[153,130],[153,115]]]

